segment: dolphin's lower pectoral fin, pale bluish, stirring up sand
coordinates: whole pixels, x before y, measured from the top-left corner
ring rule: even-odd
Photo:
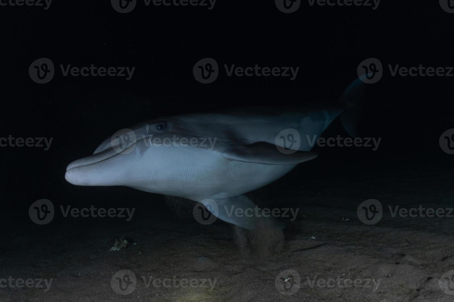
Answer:
[[[217,218],[248,230],[255,230],[259,226],[279,229],[286,227],[282,221],[262,213],[262,209],[244,195],[205,199],[202,204]]]

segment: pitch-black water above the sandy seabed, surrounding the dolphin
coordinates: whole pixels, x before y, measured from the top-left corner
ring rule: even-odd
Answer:
[[[362,137],[381,137],[380,148],[321,153],[331,161],[452,162],[438,141],[454,128],[454,77],[391,77],[387,67],[454,66],[454,14],[438,1],[382,0],[376,10],[302,1],[292,14],[279,11],[274,1],[217,0],[212,10],[138,1],[132,12],[120,14],[110,1],[54,0],[48,10],[0,6],[0,14],[1,136],[53,138],[48,151],[0,148],[3,221],[33,225],[28,207],[41,198],[104,207],[125,194],[149,199],[127,188],[75,187],[64,180],[65,168],[116,130],[141,120],[242,105],[334,102],[357,77],[358,64],[371,57],[380,59],[385,71],[368,85],[359,130]],[[207,57],[222,70],[216,81],[201,84],[192,67]],[[47,84],[29,77],[38,58],[51,59],[57,69]],[[136,68],[126,81],[63,77],[59,64]],[[293,81],[227,77],[223,64],[300,69]],[[330,131],[345,136],[336,123]]]

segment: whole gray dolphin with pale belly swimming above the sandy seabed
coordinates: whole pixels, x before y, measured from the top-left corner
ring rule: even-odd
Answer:
[[[232,207],[255,208],[242,194],[316,158],[306,138],[318,139],[337,116],[354,136],[355,104],[363,90],[364,83],[356,79],[330,108],[248,107],[147,120],[120,130],[92,155],[70,163],[65,178],[79,186],[127,186],[188,198],[202,202],[223,221],[255,229],[257,217],[231,212]],[[292,139],[295,130],[301,139],[292,145],[286,138]]]

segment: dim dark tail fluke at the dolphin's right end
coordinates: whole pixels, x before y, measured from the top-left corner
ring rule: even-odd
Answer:
[[[366,85],[365,82],[361,80],[363,77],[366,77],[366,75],[351,82],[339,99],[339,102],[345,107],[345,110],[340,115],[341,124],[345,131],[352,137],[358,136],[356,125],[360,118],[360,106],[364,97]]]

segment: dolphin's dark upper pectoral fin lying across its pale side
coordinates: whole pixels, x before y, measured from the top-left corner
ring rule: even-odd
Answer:
[[[316,158],[317,155],[315,152],[289,150],[266,142],[232,145],[222,153],[227,160],[275,165],[303,163]]]

